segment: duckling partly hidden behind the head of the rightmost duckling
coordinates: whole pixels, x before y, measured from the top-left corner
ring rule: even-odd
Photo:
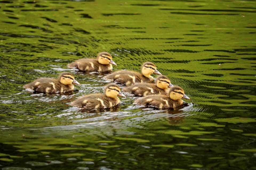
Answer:
[[[138,96],[146,96],[152,94],[162,94],[166,95],[167,88],[172,87],[170,79],[165,75],[160,75],[157,77],[156,83],[136,83],[132,86],[123,88],[123,92],[128,92]]]

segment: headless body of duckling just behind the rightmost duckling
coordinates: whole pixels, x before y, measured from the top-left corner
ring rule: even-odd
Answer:
[[[129,87],[123,88],[124,92],[128,92],[134,95],[138,96],[146,96],[146,95],[152,95],[152,94],[162,94],[166,95],[166,91],[158,88],[153,83],[137,83]]]

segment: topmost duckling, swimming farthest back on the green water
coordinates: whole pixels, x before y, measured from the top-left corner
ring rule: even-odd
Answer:
[[[97,59],[94,58],[82,58],[67,65],[69,68],[77,68],[82,71],[99,71],[106,72],[113,69],[113,65],[117,65],[112,56],[107,52],[101,52],[98,54]]]

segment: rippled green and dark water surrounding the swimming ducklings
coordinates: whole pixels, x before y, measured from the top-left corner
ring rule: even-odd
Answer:
[[[255,1],[0,1],[0,168],[256,169]],[[114,70],[152,61],[191,100],[175,110],[81,111],[106,73],[67,63],[110,52]],[[220,64],[220,65],[219,65]],[[70,71],[81,86],[31,93]]]

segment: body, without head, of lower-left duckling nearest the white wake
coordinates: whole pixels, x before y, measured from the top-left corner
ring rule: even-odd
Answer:
[[[110,108],[120,103],[118,97],[111,98],[104,94],[89,94],[78,98],[70,105],[82,109],[97,109],[97,108]]]

